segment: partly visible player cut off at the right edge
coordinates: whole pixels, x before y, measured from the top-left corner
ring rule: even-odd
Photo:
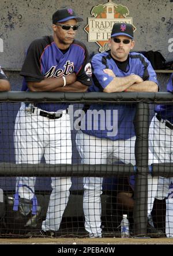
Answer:
[[[173,92],[173,73],[168,81],[167,91]],[[149,149],[157,159],[157,162],[170,163],[173,161],[173,105],[157,105],[155,112],[156,114],[152,118],[149,127]],[[173,178],[159,177],[157,199],[163,200],[168,196],[171,181],[173,181]],[[166,217],[168,220],[168,215]],[[169,225],[170,227],[172,226],[171,222]],[[168,229],[167,236],[170,236]]]

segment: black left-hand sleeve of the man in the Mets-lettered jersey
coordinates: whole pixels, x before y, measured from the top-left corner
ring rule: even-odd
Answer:
[[[20,72],[21,76],[28,77],[28,81],[42,81],[44,79],[40,64],[43,51],[44,46],[41,39],[34,40],[29,46],[27,56]]]

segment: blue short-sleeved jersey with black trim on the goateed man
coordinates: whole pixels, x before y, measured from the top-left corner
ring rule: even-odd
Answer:
[[[144,81],[157,83],[156,73],[151,63],[139,53],[129,54],[129,63],[126,71],[121,71],[112,59],[110,51],[96,54],[91,61],[93,73],[93,85],[88,91],[101,92],[114,79],[107,75],[103,69],[111,69],[116,77],[125,77],[136,74]],[[125,140],[135,135],[134,104],[93,104],[89,107],[82,120],[81,129],[88,135],[111,140]]]

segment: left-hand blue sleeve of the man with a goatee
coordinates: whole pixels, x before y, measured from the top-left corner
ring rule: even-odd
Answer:
[[[114,77],[104,73],[104,69],[110,68],[106,65],[105,58],[102,54],[96,54],[91,61],[92,72],[93,72],[93,82],[97,87],[102,89],[106,88],[108,84],[114,79]]]

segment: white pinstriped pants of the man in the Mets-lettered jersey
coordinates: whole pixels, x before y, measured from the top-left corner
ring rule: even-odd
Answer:
[[[48,119],[25,111],[22,104],[14,128],[14,147],[17,164],[38,164],[43,155],[47,164],[71,164],[72,140],[70,118],[63,110],[59,119]],[[18,177],[18,183],[27,184],[34,191],[36,177]],[[44,231],[58,231],[62,215],[69,198],[72,185],[70,177],[52,177],[50,202],[46,220],[43,221]],[[21,198],[32,199],[33,195],[27,188],[19,188]]]

